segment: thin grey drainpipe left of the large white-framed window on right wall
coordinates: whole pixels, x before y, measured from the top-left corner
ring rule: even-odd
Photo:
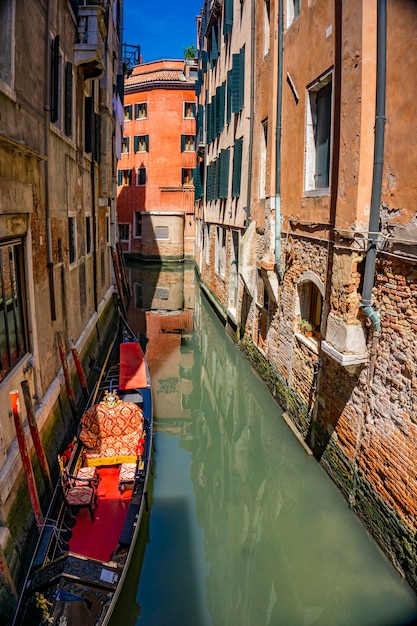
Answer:
[[[277,128],[275,142],[275,269],[282,280],[281,264],[281,130],[282,130],[282,40],[284,30],[283,0],[278,2],[278,85]]]

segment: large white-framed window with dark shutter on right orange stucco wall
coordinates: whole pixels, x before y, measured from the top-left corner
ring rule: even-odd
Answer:
[[[324,84],[323,84],[324,83]],[[325,77],[308,90],[306,116],[305,190],[327,189],[330,184],[332,81]]]

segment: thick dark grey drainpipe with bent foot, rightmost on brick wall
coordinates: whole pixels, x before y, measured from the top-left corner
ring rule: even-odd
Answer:
[[[369,216],[369,239],[363,277],[361,309],[374,325],[374,331],[381,330],[378,313],[371,306],[372,289],[375,279],[376,243],[379,234],[379,217],[382,189],[382,170],[384,165],[384,129],[386,95],[386,37],[387,6],[386,0],[377,3],[377,67],[376,67],[376,117],[374,142],[374,169],[372,177],[371,210]]]

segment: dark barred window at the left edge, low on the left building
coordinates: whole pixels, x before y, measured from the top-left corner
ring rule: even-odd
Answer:
[[[0,380],[27,352],[23,245],[0,245]]]

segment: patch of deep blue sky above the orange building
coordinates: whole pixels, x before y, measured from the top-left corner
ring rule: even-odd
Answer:
[[[123,43],[140,45],[144,63],[183,59],[196,45],[196,15],[203,0],[125,0]]]

